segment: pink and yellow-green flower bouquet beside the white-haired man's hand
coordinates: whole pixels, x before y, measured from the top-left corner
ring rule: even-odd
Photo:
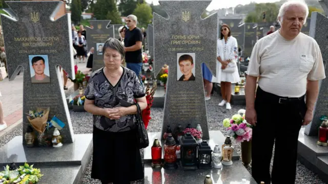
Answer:
[[[252,139],[252,125],[246,122],[244,115],[235,114],[231,119],[224,119],[223,126],[227,127],[227,135],[234,137],[237,142],[250,141]]]

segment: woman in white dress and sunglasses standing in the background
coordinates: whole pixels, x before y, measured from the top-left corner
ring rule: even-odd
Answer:
[[[216,82],[221,85],[221,94],[223,100],[219,106],[226,105],[226,109],[231,109],[231,83],[240,81],[238,67],[238,43],[237,39],[231,36],[230,27],[226,24],[221,26],[221,35],[217,40],[217,65]]]

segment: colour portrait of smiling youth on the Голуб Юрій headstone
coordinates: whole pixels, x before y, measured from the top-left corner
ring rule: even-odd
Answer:
[[[177,81],[195,80],[195,53],[177,53]]]

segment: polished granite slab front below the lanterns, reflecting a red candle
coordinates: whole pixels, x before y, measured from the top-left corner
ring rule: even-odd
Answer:
[[[208,174],[213,184],[257,184],[239,160],[222,169],[195,171],[183,171],[180,167],[176,170],[153,169],[145,164],[145,184],[200,184]]]

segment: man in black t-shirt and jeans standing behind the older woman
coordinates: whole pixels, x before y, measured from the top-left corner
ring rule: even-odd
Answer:
[[[127,68],[132,70],[140,80],[142,32],[137,28],[137,17],[135,15],[129,15],[126,22],[129,29],[125,32],[124,38],[125,61]]]

